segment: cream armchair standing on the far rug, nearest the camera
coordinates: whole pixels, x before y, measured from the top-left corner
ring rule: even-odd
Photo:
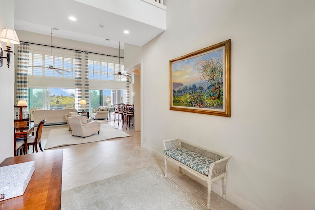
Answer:
[[[87,122],[86,119],[80,117],[68,117],[69,125],[72,130],[72,136],[91,136],[100,131],[100,124],[98,122]]]

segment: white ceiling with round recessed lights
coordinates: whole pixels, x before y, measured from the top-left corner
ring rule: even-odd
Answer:
[[[115,48],[120,41],[122,49],[124,43],[142,46],[164,31],[76,0],[15,0],[16,30],[50,35],[51,27],[58,29],[52,32],[56,37]]]

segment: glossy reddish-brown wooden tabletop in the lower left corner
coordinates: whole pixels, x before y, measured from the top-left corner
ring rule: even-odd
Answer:
[[[35,171],[24,194],[0,201],[0,210],[60,210],[63,150],[6,158],[0,166],[35,160]]]

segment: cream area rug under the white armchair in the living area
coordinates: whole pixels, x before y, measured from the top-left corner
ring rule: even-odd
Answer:
[[[99,134],[97,134],[96,132],[92,136],[88,136],[85,138],[79,136],[72,136],[72,132],[69,131],[68,127],[61,129],[52,129],[48,134],[45,150],[65,145],[76,145],[88,142],[97,142],[127,136],[130,135],[108,124],[100,125]]]

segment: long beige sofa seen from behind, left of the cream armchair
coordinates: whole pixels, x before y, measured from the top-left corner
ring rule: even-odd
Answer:
[[[67,124],[65,120],[65,114],[69,112],[77,112],[72,109],[52,109],[52,110],[35,110],[33,112],[35,126],[40,123],[41,120],[46,119],[45,125]]]

